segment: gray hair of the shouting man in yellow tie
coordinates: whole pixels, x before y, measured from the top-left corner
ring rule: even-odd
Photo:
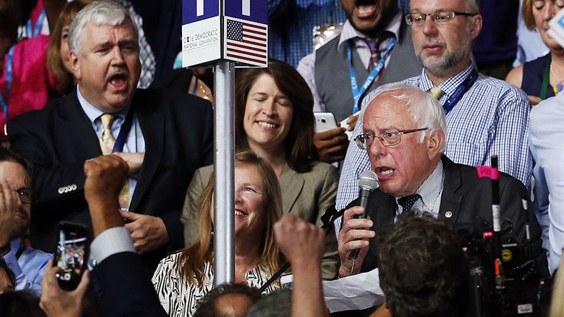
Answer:
[[[124,6],[108,0],[92,2],[76,14],[69,27],[69,51],[74,50],[76,56],[80,58],[80,46],[84,40],[82,30],[86,23],[91,22],[94,26],[119,26],[128,21],[134,29],[136,38],[139,38],[137,26]]]

